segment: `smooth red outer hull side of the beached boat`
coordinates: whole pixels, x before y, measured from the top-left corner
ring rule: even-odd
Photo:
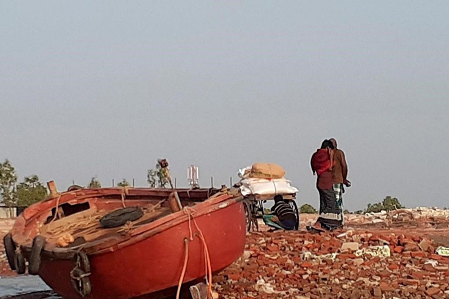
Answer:
[[[193,217],[204,235],[213,272],[241,256],[245,246],[241,201]],[[190,227],[193,240],[188,242],[183,282],[204,277],[206,270],[199,231],[193,221]],[[189,221],[183,221],[129,246],[89,256],[92,293],[87,298],[132,298],[176,286],[185,260],[184,239],[189,237]],[[73,260],[43,256],[39,276],[64,298],[81,298],[71,285],[73,267]]]

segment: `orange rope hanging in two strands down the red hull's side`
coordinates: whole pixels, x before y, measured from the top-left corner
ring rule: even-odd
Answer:
[[[195,213],[195,211],[189,207],[184,207],[183,211],[185,214],[187,214],[187,224],[189,227],[190,238],[184,238],[184,244],[186,245],[186,252],[185,252],[185,257],[184,257],[183,270],[181,272],[181,277],[178,282],[178,291],[176,293],[176,299],[179,299],[181,285],[183,284],[184,276],[186,274],[187,260],[188,260],[188,256],[189,256],[189,241],[193,241],[191,222],[194,223],[195,228],[198,230],[198,233],[195,233],[195,236],[198,237],[203,243],[203,248],[204,248],[203,254],[204,254],[204,258],[205,258],[205,278],[206,278],[206,283],[208,285],[208,298],[209,298],[209,296],[212,294],[212,266],[211,266],[211,258],[209,256],[208,245],[206,243],[206,239],[204,238],[203,232],[201,231],[200,227],[197,224],[197,221],[195,221],[195,218],[193,217],[193,214]]]

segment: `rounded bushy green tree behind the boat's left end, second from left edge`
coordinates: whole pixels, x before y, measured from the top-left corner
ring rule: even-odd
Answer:
[[[25,177],[24,182],[17,185],[17,206],[29,207],[47,197],[47,188],[39,181],[37,175]]]

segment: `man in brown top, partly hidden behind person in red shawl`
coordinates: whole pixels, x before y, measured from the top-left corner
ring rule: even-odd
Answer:
[[[335,138],[329,139],[334,145],[334,168],[332,169],[332,180],[334,182],[334,191],[337,198],[337,203],[342,210],[343,219],[343,193],[344,186],[350,187],[351,182],[347,180],[348,164],[346,163],[345,153],[337,148],[337,140]]]

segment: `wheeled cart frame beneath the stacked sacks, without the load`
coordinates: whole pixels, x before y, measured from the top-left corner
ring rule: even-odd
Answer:
[[[258,231],[259,223],[258,219],[261,219],[265,215],[264,203],[267,201],[274,201],[275,195],[248,195],[245,197],[245,214],[246,214],[246,229],[249,231]],[[296,215],[296,227],[299,228],[299,210],[296,205],[296,193],[295,194],[282,194],[284,201],[293,208]]]

